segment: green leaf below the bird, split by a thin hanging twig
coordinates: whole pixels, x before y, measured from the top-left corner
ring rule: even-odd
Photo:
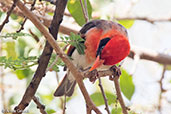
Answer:
[[[106,92],[106,97],[108,99],[108,104],[111,105],[116,101],[116,96],[112,93]],[[93,102],[96,104],[96,106],[104,105],[104,99],[101,92],[95,92],[92,95],[90,95]]]

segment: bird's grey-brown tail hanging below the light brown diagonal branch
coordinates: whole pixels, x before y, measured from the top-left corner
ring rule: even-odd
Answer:
[[[59,96],[71,96],[74,92],[74,88],[76,85],[76,81],[70,81],[68,79],[67,74],[63,78],[62,82],[59,84],[58,88],[56,89],[54,96],[59,97]]]

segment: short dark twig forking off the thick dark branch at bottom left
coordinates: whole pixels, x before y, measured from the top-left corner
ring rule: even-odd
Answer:
[[[36,103],[37,108],[40,110],[42,114],[47,114],[47,112],[45,111],[45,106],[40,103],[37,97],[34,96],[33,101]]]

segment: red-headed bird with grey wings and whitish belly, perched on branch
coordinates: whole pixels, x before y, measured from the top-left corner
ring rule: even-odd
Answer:
[[[78,69],[89,68],[89,72],[108,69],[125,59],[130,52],[127,30],[117,22],[92,20],[83,25],[78,34],[85,39],[84,54],[79,54],[74,46],[70,46],[67,52]],[[75,85],[74,76],[68,69],[54,96],[72,96]]]

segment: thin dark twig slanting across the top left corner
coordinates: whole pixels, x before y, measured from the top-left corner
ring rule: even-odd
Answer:
[[[14,0],[14,3],[12,4],[11,8],[10,8],[9,11],[7,12],[7,16],[6,16],[5,20],[4,20],[3,23],[0,25],[0,33],[1,33],[1,31],[2,31],[2,29],[3,29],[3,27],[4,27],[4,25],[5,25],[6,23],[8,23],[8,21],[9,21],[9,16],[11,15],[12,10],[15,8],[17,1],[18,1],[18,0]]]

